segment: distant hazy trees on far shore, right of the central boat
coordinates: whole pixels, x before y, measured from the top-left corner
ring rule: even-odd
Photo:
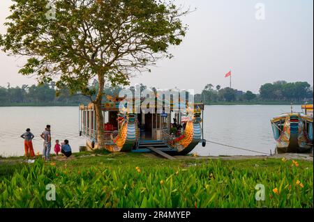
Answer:
[[[207,84],[202,93],[195,95],[196,102],[211,104],[215,102],[306,102],[313,101],[313,88],[307,82],[287,83],[276,81],[260,86],[260,93],[241,91],[234,88],[214,87]]]

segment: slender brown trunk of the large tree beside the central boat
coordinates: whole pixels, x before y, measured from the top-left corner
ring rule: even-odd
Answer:
[[[97,124],[97,143],[98,149],[105,149],[105,132],[103,127],[103,111],[102,111],[102,101],[103,101],[103,88],[105,86],[105,80],[103,75],[98,74],[98,93],[96,100],[94,101],[95,111],[96,111],[96,124]]]

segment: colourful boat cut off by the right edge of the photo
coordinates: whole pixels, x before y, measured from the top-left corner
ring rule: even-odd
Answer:
[[[313,113],[313,105],[302,106],[302,108],[312,109]],[[291,111],[271,119],[278,153],[313,150],[313,116],[308,115],[308,111],[305,113]]]

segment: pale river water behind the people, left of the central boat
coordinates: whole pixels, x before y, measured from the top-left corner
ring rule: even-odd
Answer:
[[[0,107],[0,155],[15,156],[24,154],[24,141],[20,135],[27,128],[35,135],[35,153],[43,150],[40,134],[45,125],[51,125],[52,152],[54,141],[68,139],[74,152],[84,145],[84,138],[78,132],[78,107]]]

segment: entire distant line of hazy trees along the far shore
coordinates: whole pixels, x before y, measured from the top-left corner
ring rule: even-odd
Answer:
[[[147,86],[141,84],[141,89]],[[105,86],[105,96],[118,96],[119,86]],[[153,88],[154,89],[154,88]],[[98,82],[95,80],[89,90],[98,90]],[[134,90],[131,87],[131,90]],[[93,94],[93,93],[91,93]],[[95,96],[95,95],[94,95]],[[94,96],[87,97],[77,93],[73,95],[68,88],[61,90],[56,88],[54,82],[50,84],[22,85],[22,87],[0,86],[0,106],[15,104],[30,105],[77,105],[88,104]],[[106,97],[104,97],[104,102]],[[313,101],[313,88],[307,82],[287,83],[286,81],[276,81],[273,84],[260,86],[260,93],[255,94],[251,91],[241,91],[234,88],[221,88],[219,85],[214,87],[207,84],[202,93],[195,95],[195,102],[212,104],[215,102],[306,102]]]

